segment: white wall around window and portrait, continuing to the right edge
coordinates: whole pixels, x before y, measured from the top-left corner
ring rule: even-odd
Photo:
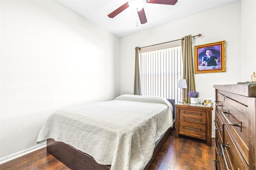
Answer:
[[[133,94],[136,46],[144,47],[168,42],[190,34],[192,36],[202,34],[201,37],[192,39],[193,55],[195,45],[226,41],[226,72],[195,74],[196,90],[201,94],[200,101],[207,97],[215,98],[214,84],[249,81],[251,72],[256,71],[256,53],[251,53],[256,47],[255,11],[255,1],[237,1],[121,38],[120,93]],[[248,38],[249,36],[251,38]],[[242,43],[241,40],[244,42]],[[247,57],[244,55],[245,51],[250,54],[248,62],[243,60]]]

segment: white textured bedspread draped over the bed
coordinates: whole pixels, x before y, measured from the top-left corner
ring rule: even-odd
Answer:
[[[54,112],[37,142],[53,138],[99,164],[111,164],[111,170],[141,170],[152,157],[155,142],[172,124],[172,105],[166,99],[121,95]]]

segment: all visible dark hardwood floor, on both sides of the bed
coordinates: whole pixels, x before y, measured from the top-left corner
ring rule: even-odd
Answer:
[[[214,144],[214,141],[212,143]],[[214,170],[214,150],[214,145],[207,146],[204,140],[188,136],[175,138],[175,131],[172,130],[149,170]],[[69,168],[48,154],[46,148],[42,148],[1,164],[0,170],[69,170]]]

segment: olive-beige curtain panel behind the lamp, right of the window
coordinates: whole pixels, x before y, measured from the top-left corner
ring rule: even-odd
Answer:
[[[182,58],[183,58],[183,79],[186,79],[188,89],[183,89],[182,98],[187,103],[190,103],[190,97],[188,97],[189,91],[196,91],[195,80],[194,80],[194,68],[192,58],[192,42],[191,35],[185,36],[181,41],[182,46]]]

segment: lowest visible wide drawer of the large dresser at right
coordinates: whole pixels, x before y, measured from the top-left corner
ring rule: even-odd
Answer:
[[[224,160],[225,169],[234,169],[234,170],[247,170],[248,164],[241,155],[239,149],[237,148],[235,141],[230,137],[230,131],[224,126],[224,135],[225,140],[224,144],[221,145],[222,148],[222,159]]]

